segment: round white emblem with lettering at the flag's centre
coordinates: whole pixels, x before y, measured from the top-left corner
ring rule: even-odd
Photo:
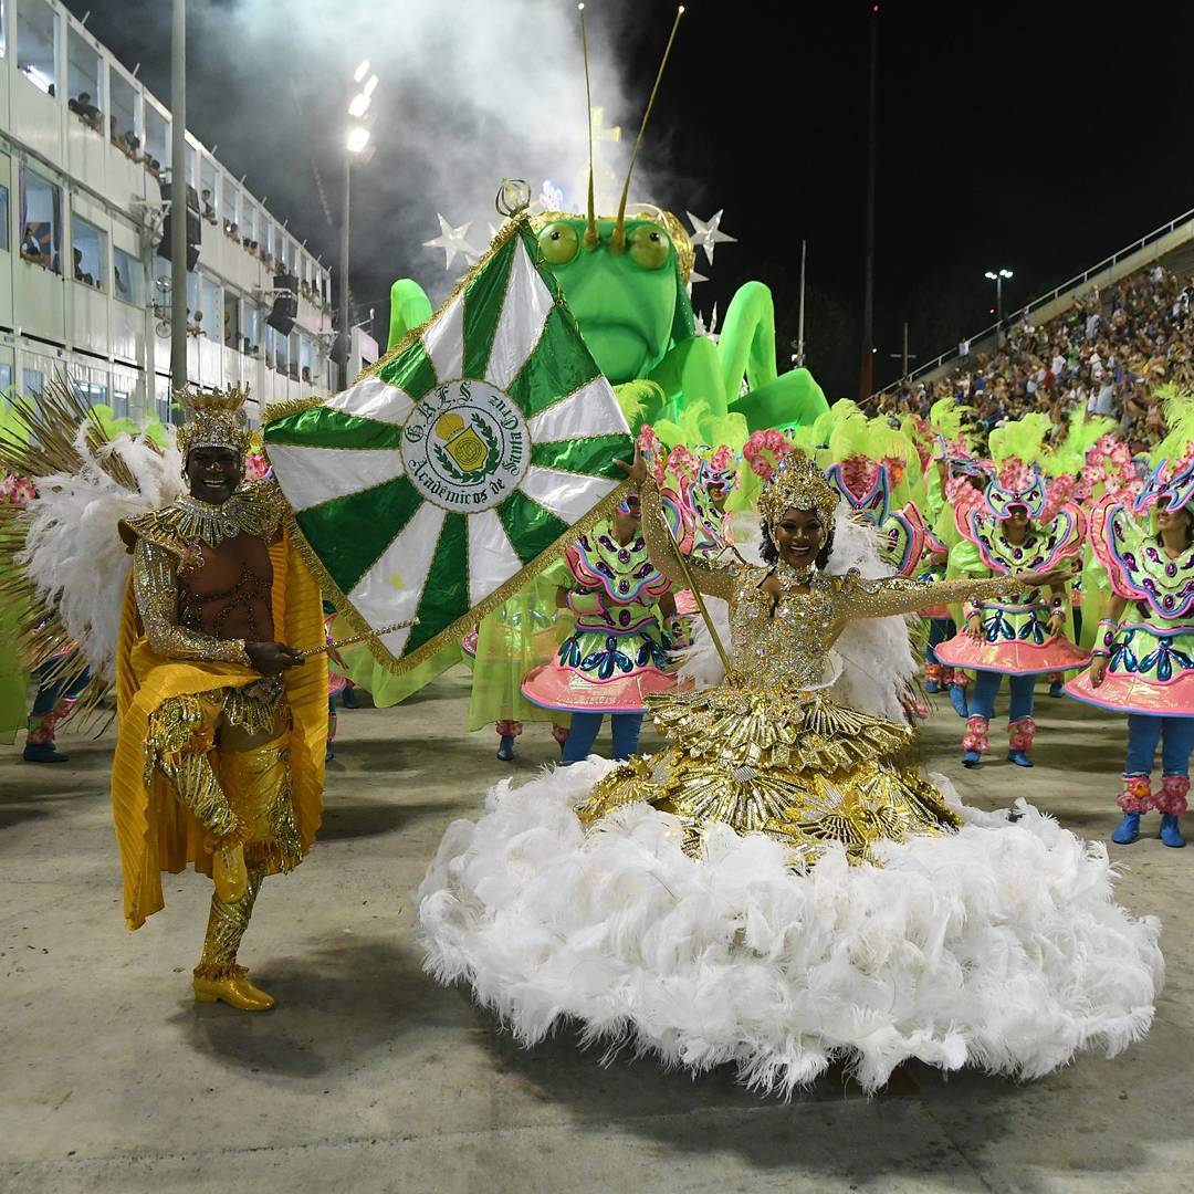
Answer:
[[[530,467],[530,432],[507,394],[466,377],[431,390],[402,426],[406,475],[444,510],[499,505]]]

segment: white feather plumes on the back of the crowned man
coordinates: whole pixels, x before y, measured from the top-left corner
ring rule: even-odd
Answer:
[[[57,607],[92,676],[111,681],[133,559],[117,524],[170,505],[183,488],[183,458],[172,433],[164,449],[122,432],[97,451],[88,430],[81,426],[74,441],[84,460],[78,472],[31,479],[37,496],[21,515],[26,536],[17,559],[35,592]],[[137,490],[104,470],[109,454],[128,466]]]

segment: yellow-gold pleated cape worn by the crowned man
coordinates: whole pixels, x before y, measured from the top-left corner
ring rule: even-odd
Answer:
[[[319,586],[283,531],[270,546],[273,565],[275,634],[300,651],[324,644]],[[279,633],[281,632],[281,633]],[[146,731],[150,715],[174,696],[251,684],[260,677],[239,664],[167,659],[146,639],[129,579],[116,652],[117,741],[112,763],[112,817],[124,875],[124,916],[137,929],[165,906],[161,873],[193,863],[211,874],[203,830],[170,790],[161,773],[144,780]],[[324,752],[327,745],[327,657],[315,656],[284,673],[290,704],[290,770],[295,821],[302,853],[315,841],[324,813]]]

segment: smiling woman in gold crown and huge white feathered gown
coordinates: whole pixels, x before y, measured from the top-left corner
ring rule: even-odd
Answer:
[[[632,475],[652,558],[676,566],[640,460]],[[794,454],[759,503],[770,562],[694,570],[730,603],[733,659],[652,698],[659,755],[507,781],[449,827],[419,890],[426,966],[523,1042],[571,1018],[790,1094],[835,1058],[867,1089],[909,1058],[1036,1077],[1147,1030],[1159,924],[1113,901],[1106,850],[1023,801],[964,808],[906,724],[830,695],[855,620],[1007,578],[833,574],[836,499]]]

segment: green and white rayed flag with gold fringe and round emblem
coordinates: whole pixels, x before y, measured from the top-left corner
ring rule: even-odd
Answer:
[[[604,516],[633,453],[525,217],[419,333],[334,398],[266,410],[298,543],[395,670],[458,640]]]

